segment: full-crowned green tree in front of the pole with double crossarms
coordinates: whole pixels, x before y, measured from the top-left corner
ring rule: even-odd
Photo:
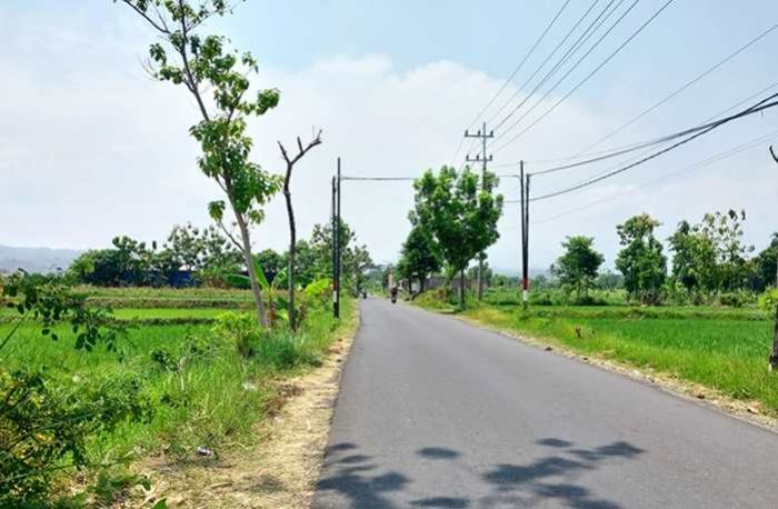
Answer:
[[[465,306],[465,270],[470,260],[499,239],[497,221],[502,196],[495,194],[497,177],[487,171],[482,182],[466,167],[427,170],[413,182],[416,206],[410,221],[432,233],[443,260],[459,273],[459,306]]]

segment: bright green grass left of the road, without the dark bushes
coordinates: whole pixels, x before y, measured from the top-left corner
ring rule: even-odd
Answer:
[[[150,418],[96,437],[89,446],[94,465],[152,453],[191,458],[197,447],[218,452],[256,441],[256,425],[283,402],[283,379],[319,366],[357,312],[355,302],[345,301],[343,319],[338,322],[328,306],[311,301],[299,332],[277,330],[238,348],[223,328],[219,331],[217,326],[201,322],[211,322],[228,311],[210,307],[213,301],[222,302],[225,293],[183,290],[187,295],[182,296],[178,291],[94,291],[116,300],[142,293],[142,298],[170,303],[148,309],[118,307],[117,318],[128,320],[118,351],[104,347],[92,352],[76,350],[68,327],[56,327],[60,339],[52,341],[41,336],[34,321],[23,325],[4,351],[3,368],[42,369],[73,392],[82,383],[103,379],[137,380],[152,408]],[[237,301],[250,299],[248,292],[227,295]],[[181,297],[197,299],[203,307],[177,308]],[[0,322],[0,337],[12,327],[10,321]]]

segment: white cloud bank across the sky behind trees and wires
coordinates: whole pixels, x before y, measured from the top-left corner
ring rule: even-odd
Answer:
[[[143,27],[123,21],[126,12],[120,14],[96,24],[86,9],[62,18],[0,8],[0,17],[11,21],[0,36],[0,243],[101,247],[117,234],[162,239],[174,223],[208,222],[206,203],[220,191],[196,167],[197,147],[187,134],[197,121],[194,106],[182,90],[143,74],[140,57],[151,39]],[[381,54],[333,56],[295,72],[262,68],[260,86],[278,87],[281,103],[251,123],[255,159],[280,172],[277,141],[292,146],[297,136],[306,140],[315,128],[323,129],[323,146],[296,168],[292,181],[299,229],[307,234],[315,223],[328,220],[338,157],[347,176],[415,177],[450,163],[463,127],[500,84],[453,61],[396,69]],[[537,129],[496,153],[496,162],[569,154],[618,124],[620,117],[568,100]],[[731,143],[728,138],[717,141]],[[548,266],[563,237],[578,233],[596,237],[612,261],[615,224],[644,210],[671,227],[681,217],[746,208],[749,239],[764,244],[778,219],[776,169],[764,158],[738,159],[738,170],[711,167],[636,190],[658,170],[706,153],[668,158],[650,171],[538,203],[532,216],[541,219],[614,197],[533,226],[531,265]],[[536,189],[563,187],[586,174],[538,179]],[[515,180],[503,179],[507,198],[518,194],[516,187]],[[410,183],[346,181],[342,191],[345,219],[360,241],[376,260],[393,260],[409,227]],[[516,268],[516,206],[506,207],[500,224],[501,239],[490,250],[490,261]],[[256,247],[283,249],[287,234],[279,197],[256,230]]]

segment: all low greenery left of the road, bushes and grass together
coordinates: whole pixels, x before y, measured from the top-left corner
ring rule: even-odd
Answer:
[[[251,445],[283,403],[283,379],[319,366],[341,333],[327,279],[298,289],[296,331],[280,318],[258,328],[246,289],[61,279],[0,282],[2,507],[106,507],[153,482],[133,473],[149,455],[186,462]],[[347,298],[342,322],[355,312]]]

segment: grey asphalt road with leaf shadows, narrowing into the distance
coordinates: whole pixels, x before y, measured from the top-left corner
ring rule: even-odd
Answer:
[[[778,435],[553,352],[362,303],[315,508],[776,508]]]

